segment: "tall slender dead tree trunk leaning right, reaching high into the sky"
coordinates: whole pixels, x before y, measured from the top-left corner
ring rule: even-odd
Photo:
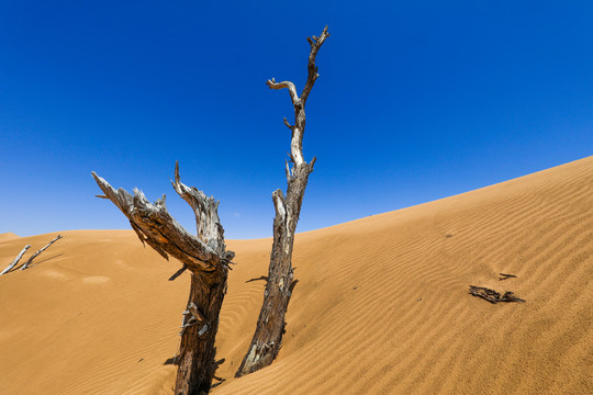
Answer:
[[[294,230],[296,229],[309,174],[313,171],[313,165],[315,163],[315,158],[310,163],[305,162],[303,158],[305,103],[315,80],[320,76],[315,66],[317,50],[328,36],[329,33],[327,33],[327,26],[325,26],[321,36],[307,38],[311,45],[307,65],[309,76],[300,97],[296,94],[296,88],[291,81],[276,82],[272,78],[267,82],[270,89],[287,88],[294,106],[294,125],[291,125],[284,119],[284,125],[292,132],[289,154],[292,169],[287,161],[286,176],[288,189],[286,198],[281,190],[276,190],[272,193],[276,217],[273,218],[273,244],[268,270],[268,281],[256,331],[240,368],[235,374],[237,377],[271,364],[278,356],[282,343],[282,334],[284,332],[286,325],[284,315],[290,301],[293,280],[292,245],[294,241]]]

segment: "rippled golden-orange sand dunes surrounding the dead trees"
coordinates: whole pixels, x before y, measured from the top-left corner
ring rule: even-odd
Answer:
[[[271,240],[228,241],[213,394],[593,394],[592,184],[590,157],[298,235],[283,348],[239,380]],[[0,394],[171,394],[188,274],[132,230],[60,234],[0,278]],[[55,235],[0,238],[0,266]]]

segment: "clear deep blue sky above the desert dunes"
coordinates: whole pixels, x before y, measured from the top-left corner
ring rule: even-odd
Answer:
[[[593,2],[2,1],[0,233],[130,228],[90,172],[221,201],[228,238],[271,236],[306,36],[317,157],[299,232],[593,154]]]

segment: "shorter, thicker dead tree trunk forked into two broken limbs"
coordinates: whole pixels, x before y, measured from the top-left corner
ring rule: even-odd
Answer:
[[[210,391],[216,363],[214,339],[219,330],[219,315],[226,293],[228,264],[234,258],[224,244],[224,229],[219,219],[219,202],[193,187],[181,183],[179,165],[175,167],[175,191],[193,208],[198,236],[186,230],[168,212],[165,195],[150,204],[144,193],[134,189],[134,195],[115,191],[104,179],[92,177],[103,191],[130,219],[141,239],[168,260],[169,255],[191,272],[189,300],[183,312],[179,369],[175,384],[176,395],[197,395]],[[182,270],[176,274],[179,275]]]

